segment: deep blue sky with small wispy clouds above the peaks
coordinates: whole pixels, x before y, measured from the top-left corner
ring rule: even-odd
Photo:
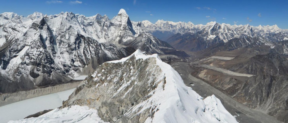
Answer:
[[[228,24],[274,25],[288,29],[287,0],[2,0],[0,13],[27,16],[33,12],[73,12],[85,16],[106,14],[110,19],[124,8],[130,20],[210,21]]]

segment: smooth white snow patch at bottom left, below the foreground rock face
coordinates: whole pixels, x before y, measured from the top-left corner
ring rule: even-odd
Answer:
[[[54,109],[37,118],[28,118],[8,123],[106,123],[97,115],[97,110],[88,106],[73,105],[63,109]]]

